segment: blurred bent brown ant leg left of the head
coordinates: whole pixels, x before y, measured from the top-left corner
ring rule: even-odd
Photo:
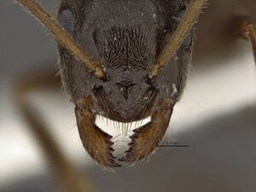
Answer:
[[[61,80],[56,78],[54,73],[27,75],[26,79],[20,79],[17,89],[15,91],[15,102],[18,105],[20,113],[26,119],[27,123],[37,138],[40,147],[49,161],[51,169],[55,172],[55,177],[61,183],[61,187],[66,192],[81,191],[91,192],[95,191],[90,187],[87,178],[83,177],[81,173],[67,160],[64,154],[61,153],[55,143],[55,139],[50,136],[47,127],[40,119],[32,106],[26,101],[26,96],[29,92],[34,90],[42,90],[58,87]]]

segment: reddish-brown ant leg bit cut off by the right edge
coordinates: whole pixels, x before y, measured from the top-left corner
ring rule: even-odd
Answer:
[[[256,62],[256,22],[249,18],[238,19],[237,32],[242,38],[250,40],[253,44],[253,55]]]

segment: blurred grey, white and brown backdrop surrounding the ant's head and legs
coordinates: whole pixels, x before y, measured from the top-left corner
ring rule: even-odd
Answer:
[[[58,1],[39,1],[55,15]],[[104,172],[86,154],[73,104],[60,89],[28,96],[51,135],[96,191],[256,190],[256,68],[251,44],[228,33],[230,18],[256,20],[254,0],[212,0],[201,15],[191,73],[163,143],[148,162]],[[15,82],[55,70],[55,40],[14,1],[0,1],[0,191],[61,191],[14,102]]]

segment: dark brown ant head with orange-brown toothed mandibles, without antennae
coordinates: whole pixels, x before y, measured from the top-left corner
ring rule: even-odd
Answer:
[[[186,1],[63,0],[58,20],[98,61],[97,78],[59,45],[61,78],[76,105],[84,148],[102,166],[143,160],[162,140],[183,91],[192,32],[154,79],[156,57],[182,18]]]

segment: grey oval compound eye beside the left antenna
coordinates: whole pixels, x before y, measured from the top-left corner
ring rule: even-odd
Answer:
[[[58,21],[60,22],[61,26],[71,35],[73,36],[75,33],[75,18],[73,13],[68,10],[64,9],[58,15]]]

